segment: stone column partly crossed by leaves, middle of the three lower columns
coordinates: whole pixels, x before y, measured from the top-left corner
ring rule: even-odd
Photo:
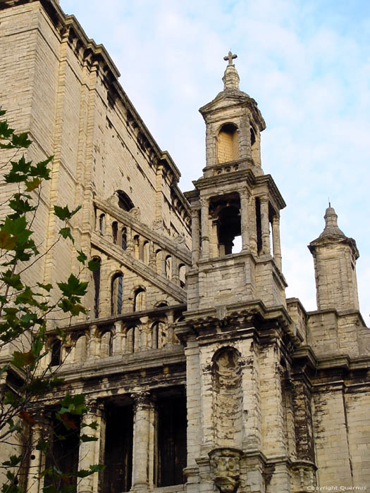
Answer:
[[[103,425],[104,405],[97,402],[96,399],[91,399],[87,402],[87,413],[83,416],[83,422],[86,424],[97,421],[97,430],[84,427],[81,428],[81,435],[85,434],[90,437],[97,438],[94,442],[80,442],[78,469],[89,469],[94,464],[101,462],[101,436],[105,430]],[[78,480],[78,493],[93,493],[98,491],[99,475],[92,474],[87,478]]]

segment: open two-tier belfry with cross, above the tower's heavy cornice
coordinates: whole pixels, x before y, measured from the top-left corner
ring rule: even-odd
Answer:
[[[252,299],[285,305],[279,232],[285,202],[261,168],[266,125],[256,101],[239,89],[235,57],[225,57],[223,91],[199,110],[206,123],[206,167],[186,194],[192,207],[190,311]]]

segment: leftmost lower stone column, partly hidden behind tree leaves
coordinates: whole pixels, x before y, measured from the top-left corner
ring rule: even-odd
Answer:
[[[35,424],[32,426],[32,442],[30,450],[30,467],[27,473],[27,493],[39,493],[42,490],[44,480],[39,478],[45,468],[45,454],[37,450],[39,439],[52,439],[51,416],[45,410],[37,409],[35,412]]]

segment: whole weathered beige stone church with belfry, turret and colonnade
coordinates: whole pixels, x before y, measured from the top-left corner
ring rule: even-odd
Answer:
[[[11,125],[29,132],[27,158],[54,155],[35,223],[45,256],[25,282],[64,280],[80,249],[99,259],[94,274],[82,273],[89,317],[49,327],[49,363],[63,362],[60,394],[85,394],[87,420],[99,423],[96,442],[54,451],[62,470],[105,464],[77,491],[370,489],[370,332],[359,313],[359,252],[329,206],[309,244],[317,310],[285,297],[285,202],[261,168],[266,125],[240,90],[235,56],[225,57],[223,90],[200,108],[206,164],[183,194],[178,168],[104,46],[58,1],[1,2],[0,54],[1,104]],[[54,205],[66,204],[82,206],[75,245],[49,250],[60,228]],[[66,331],[63,343],[56,327]],[[57,397],[38,403],[30,439],[56,427],[49,408]],[[32,456],[27,492],[42,491],[46,460],[41,451]]]

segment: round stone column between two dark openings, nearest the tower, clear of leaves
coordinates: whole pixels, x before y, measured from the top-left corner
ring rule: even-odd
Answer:
[[[149,449],[151,428],[153,428],[154,403],[149,392],[137,392],[131,394],[131,397],[135,401],[132,489],[147,490],[149,487],[149,470],[152,469]]]

